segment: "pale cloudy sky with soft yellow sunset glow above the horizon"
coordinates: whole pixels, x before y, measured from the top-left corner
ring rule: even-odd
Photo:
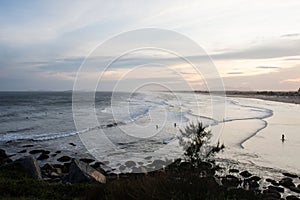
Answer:
[[[207,86],[215,79],[226,90],[298,90],[299,10],[298,0],[2,0],[0,90],[72,90],[78,77],[83,90],[215,89]],[[145,28],[171,31],[150,38],[170,49],[131,51],[139,34],[107,42]],[[203,50],[189,55],[176,34]],[[198,71],[178,59],[177,47],[187,60],[198,56]]]

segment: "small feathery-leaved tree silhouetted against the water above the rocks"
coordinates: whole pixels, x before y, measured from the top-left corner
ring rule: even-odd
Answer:
[[[218,142],[216,146],[210,145],[211,132],[205,130],[201,122],[196,125],[190,123],[184,130],[180,130],[179,144],[185,150],[185,157],[194,167],[198,167],[202,161],[212,157],[225,146]]]

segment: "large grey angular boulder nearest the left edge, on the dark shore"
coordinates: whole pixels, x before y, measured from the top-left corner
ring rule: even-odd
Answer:
[[[12,165],[19,165],[27,171],[33,178],[42,180],[41,169],[37,160],[32,156],[20,158],[11,163]]]

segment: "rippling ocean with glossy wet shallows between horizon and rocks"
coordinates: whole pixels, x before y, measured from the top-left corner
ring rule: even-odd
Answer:
[[[294,104],[187,92],[80,92],[76,98],[71,91],[1,92],[0,148],[12,158],[25,147],[89,154],[117,169],[128,160],[182,157],[180,131],[202,122],[212,143],[225,144],[219,162],[260,173],[300,173],[299,113]]]

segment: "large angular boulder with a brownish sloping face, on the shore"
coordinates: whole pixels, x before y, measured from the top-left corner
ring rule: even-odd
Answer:
[[[88,164],[73,159],[71,162],[69,174],[64,178],[64,181],[69,183],[106,183],[106,177],[97,170],[93,169]]]

